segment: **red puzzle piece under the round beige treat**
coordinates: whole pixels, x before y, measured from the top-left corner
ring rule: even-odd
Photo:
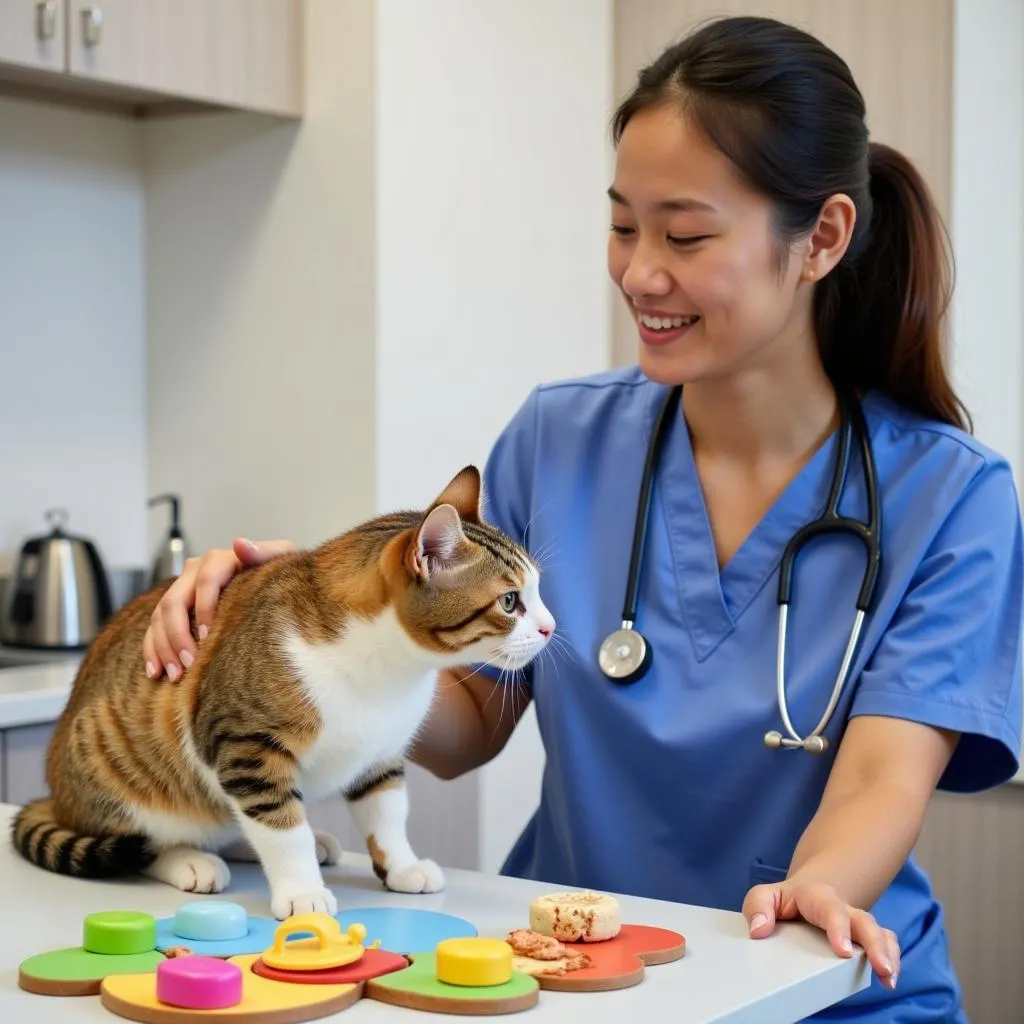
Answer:
[[[591,966],[566,974],[537,975],[541,988],[558,992],[606,992],[629,988],[643,980],[644,966],[668,964],[686,951],[679,932],[647,925],[623,925],[613,939],[604,942],[566,942],[564,945],[590,957]]]

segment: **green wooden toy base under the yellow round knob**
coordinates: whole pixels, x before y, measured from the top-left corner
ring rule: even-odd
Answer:
[[[528,975],[512,972],[504,985],[449,985],[437,980],[433,953],[411,957],[408,971],[367,982],[366,995],[380,1002],[437,1014],[488,1016],[512,1014],[536,1007],[540,986]]]

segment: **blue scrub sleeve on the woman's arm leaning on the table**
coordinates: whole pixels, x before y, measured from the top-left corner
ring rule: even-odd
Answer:
[[[1010,468],[986,464],[929,546],[861,676],[851,716],[963,733],[939,788],[978,792],[1018,770],[1022,559]]]

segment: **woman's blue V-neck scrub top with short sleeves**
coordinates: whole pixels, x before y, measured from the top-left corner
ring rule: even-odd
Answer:
[[[654,482],[636,626],[653,648],[639,682],[597,665],[622,622],[640,477],[665,387],[631,367],[537,388],[496,443],[486,517],[540,554],[563,644],[527,673],[546,751],[540,806],[503,872],[739,910],[785,877],[844,723],[889,715],[964,737],[940,786],[1010,778],[1021,726],[1022,528],[1011,468],[970,435],[884,396],[863,402],[879,474],[883,564],[826,755],[770,751],[776,585],[788,538],[823,508],[836,436],[722,571],[689,435],[673,419]],[[841,512],[865,519],[856,444]],[[828,700],[864,549],[825,537],[798,558],[786,659],[801,734]],[[870,908],[900,937],[896,992],[877,980],[821,1020],[959,1021],[941,908],[911,857]]]

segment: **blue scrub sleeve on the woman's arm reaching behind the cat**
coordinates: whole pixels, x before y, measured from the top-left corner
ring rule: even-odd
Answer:
[[[483,518],[523,546],[531,516],[537,456],[537,406],[535,388],[499,434],[483,469]],[[497,680],[496,666],[475,666],[480,675]],[[531,683],[527,667],[517,676],[520,685]]]

